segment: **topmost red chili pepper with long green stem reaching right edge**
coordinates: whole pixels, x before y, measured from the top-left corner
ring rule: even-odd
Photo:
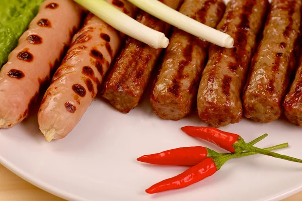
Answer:
[[[252,151],[263,155],[272,156],[275,158],[281,158],[284,160],[302,163],[301,159],[277,154],[274,152],[260,149],[258,147],[251,146],[247,144],[240,135],[234,133],[228,133],[228,132],[220,131],[216,128],[209,128],[209,127],[186,126],[181,129],[190,136],[199,137],[201,139],[207,140],[231,152],[241,153],[242,151],[246,150],[246,151]]]

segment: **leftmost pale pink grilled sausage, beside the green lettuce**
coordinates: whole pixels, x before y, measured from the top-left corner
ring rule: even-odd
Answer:
[[[51,6],[54,5],[54,6]],[[46,0],[0,72],[0,128],[21,122],[80,28],[82,9],[72,0]]]

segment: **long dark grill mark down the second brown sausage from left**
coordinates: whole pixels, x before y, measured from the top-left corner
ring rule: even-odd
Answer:
[[[182,60],[178,64],[178,71],[175,78],[172,81],[172,86],[170,86],[167,91],[172,93],[175,97],[179,96],[180,92],[180,81],[183,77],[183,71],[185,67],[192,61],[192,51],[193,51],[193,36],[189,40],[189,44],[185,47],[183,51],[183,56],[185,60]]]

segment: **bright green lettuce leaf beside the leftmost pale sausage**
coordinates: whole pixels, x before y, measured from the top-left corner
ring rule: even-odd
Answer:
[[[0,68],[18,45],[20,36],[37,15],[43,0],[1,0],[0,6]]]

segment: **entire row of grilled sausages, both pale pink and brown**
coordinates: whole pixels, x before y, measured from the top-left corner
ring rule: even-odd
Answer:
[[[64,138],[99,90],[117,110],[130,112],[153,72],[150,103],[163,119],[180,120],[197,107],[202,122],[213,127],[243,116],[269,123],[282,114],[302,126],[302,0],[231,0],[226,6],[223,0],[161,1],[231,35],[230,49],[172,28],[126,0],[106,1],[170,36],[168,48],[125,37],[72,0],[46,0],[0,72],[0,128],[26,118],[51,80],[39,127],[47,141]]]

